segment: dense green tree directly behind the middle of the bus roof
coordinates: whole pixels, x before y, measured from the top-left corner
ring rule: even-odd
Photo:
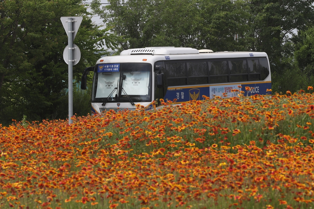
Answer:
[[[177,46],[197,49],[212,49],[213,51],[242,51],[243,36],[248,30],[248,7],[244,1],[230,0],[187,0],[169,1],[176,12],[172,21],[167,23],[170,31],[165,34],[171,43],[176,40]],[[161,30],[164,31],[164,30]],[[238,40],[234,36],[240,35]]]

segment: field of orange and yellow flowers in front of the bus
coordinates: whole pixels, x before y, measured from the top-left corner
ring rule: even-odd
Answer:
[[[314,94],[203,99],[0,125],[0,208],[313,208]]]

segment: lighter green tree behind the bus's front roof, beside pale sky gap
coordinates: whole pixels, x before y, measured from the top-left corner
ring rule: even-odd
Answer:
[[[91,8],[104,19],[113,36],[107,47],[138,48],[151,46],[152,38],[162,29],[164,1],[110,0],[111,4],[100,8],[100,1],[93,0]]]

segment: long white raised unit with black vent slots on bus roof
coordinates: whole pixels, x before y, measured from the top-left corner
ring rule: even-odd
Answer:
[[[197,49],[183,47],[146,47],[138,49],[128,49],[120,55],[175,55],[175,54],[199,54]]]

